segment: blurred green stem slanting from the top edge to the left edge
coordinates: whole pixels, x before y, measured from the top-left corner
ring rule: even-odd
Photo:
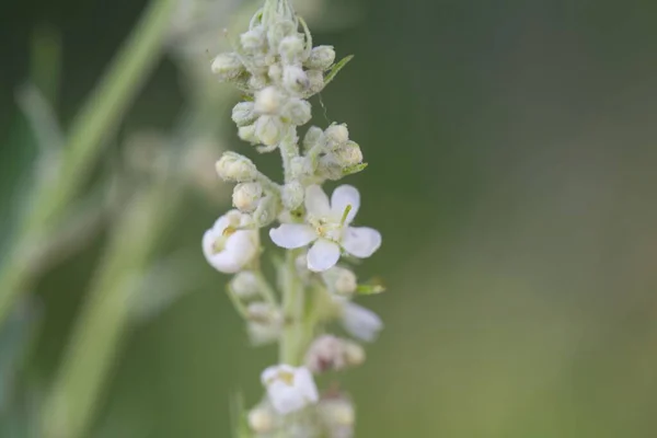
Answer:
[[[112,64],[105,78],[76,118],[54,180],[39,181],[33,208],[0,267],[0,325],[21,293],[31,288],[32,245],[61,220],[68,204],[93,169],[103,140],[116,127],[149,71],[160,59],[174,0],[153,0]]]

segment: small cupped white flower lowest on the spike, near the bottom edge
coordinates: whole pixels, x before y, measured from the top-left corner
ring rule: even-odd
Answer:
[[[283,415],[302,410],[319,400],[318,388],[306,367],[277,365],[263,371],[261,380],[274,408]]]

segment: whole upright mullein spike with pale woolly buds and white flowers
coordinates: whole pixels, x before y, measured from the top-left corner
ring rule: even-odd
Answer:
[[[279,346],[278,364],[261,374],[265,395],[245,415],[247,428],[240,434],[350,437],[355,410],[349,396],[335,389],[320,393],[315,377],[362,364],[360,343],[373,341],[382,328],[377,314],[351,300],[380,287],[359,285],[349,267],[379,249],[381,234],[353,224],[358,189],[339,185],[328,198],[322,188],[366,166],[347,126],[311,126],[302,140],[299,132],[311,120],[309,99],[350,57],[335,62],[333,47],[313,47],[306,22],[288,0],[266,0],[231,45],[233,51],[217,56],[211,70],[243,95],[232,111],[239,137],[261,153],[279,151],[285,177],[278,184],[249,158],[223,153],[216,170],[223,181],[237,183],[235,208],[203,237],[208,263],[233,275],[228,295],[252,343]],[[285,257],[270,257],[275,287],[261,269],[261,229],[286,250]],[[334,322],[351,338],[328,334]]]

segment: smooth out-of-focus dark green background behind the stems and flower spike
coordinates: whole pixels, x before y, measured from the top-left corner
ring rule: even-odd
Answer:
[[[59,77],[37,74],[57,84],[66,130],[146,4],[8,3],[2,242],[36,153],[15,103],[34,74],[34,31],[61,43]],[[235,3],[217,19],[217,38]],[[315,123],[348,123],[370,164],[348,181],[364,194],[359,220],[384,237],[359,274],[385,280],[385,293],[360,300],[385,328],[366,365],[341,378],[357,402],[357,436],[657,436],[657,3],[321,8],[311,25],[316,43],[356,58],[322,93],[325,115]],[[192,57],[201,68],[205,51]],[[136,131],[168,135],[188,100],[182,78],[166,55],[107,139],[99,169]],[[209,117],[227,118],[230,100]],[[255,157],[234,130],[222,139]],[[275,157],[256,160],[275,169]],[[229,208],[230,189],[219,181],[216,196],[185,188],[159,251],[188,250],[198,274],[171,306],[126,331],[90,436],[228,437],[231,394],[260,397],[260,371],[275,351],[245,346],[227,277],[199,249],[203,231]],[[101,231],[39,276],[31,300],[38,324],[12,397],[55,376],[105,240]]]

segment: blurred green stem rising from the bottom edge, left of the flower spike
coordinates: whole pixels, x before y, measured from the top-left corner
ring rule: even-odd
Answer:
[[[45,438],[87,436],[129,323],[131,302],[173,211],[169,184],[157,183],[126,206],[76,323],[43,408]]]

